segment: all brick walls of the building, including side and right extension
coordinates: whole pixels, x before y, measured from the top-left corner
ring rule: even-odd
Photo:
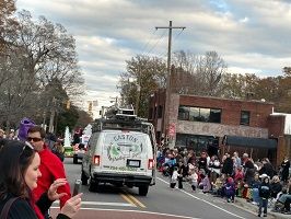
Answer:
[[[150,100],[150,107],[156,107],[159,105],[164,106],[165,92],[159,90],[153,97]],[[178,106],[197,106],[197,107],[209,107],[209,108],[221,108],[221,123],[200,123],[200,122],[188,122],[178,120]],[[163,107],[164,108],[164,107]],[[222,138],[224,135],[231,136],[244,136],[255,138],[276,138],[278,140],[277,148],[277,161],[278,165],[284,155],[291,155],[291,137],[283,135],[284,128],[284,116],[271,115],[273,104],[260,101],[247,101],[247,100],[229,100],[196,95],[178,95],[172,94],[170,97],[170,118],[168,125],[164,126],[163,118],[156,118],[152,116],[152,122],[155,127],[159,126],[159,131],[168,134],[170,129],[171,138],[170,146],[175,146],[176,134],[189,134],[189,135],[205,135],[214,136]],[[240,125],[241,123],[241,111],[251,112],[249,126]],[[271,116],[270,116],[271,115]],[[161,120],[162,119],[162,120]],[[166,130],[163,129],[166,127]],[[173,134],[174,130],[174,134]],[[224,150],[231,150],[224,148]],[[242,149],[245,150],[245,149]],[[247,149],[248,150],[248,149]],[[249,149],[251,150],[251,149]],[[248,153],[266,155],[266,151],[257,151],[252,149]]]

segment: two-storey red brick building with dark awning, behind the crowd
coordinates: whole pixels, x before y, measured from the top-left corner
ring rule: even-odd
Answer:
[[[224,153],[247,152],[254,160],[268,157],[278,165],[290,154],[286,116],[272,115],[272,103],[196,95],[170,95],[168,123],[164,120],[165,91],[150,97],[149,120],[156,140],[168,146]]]

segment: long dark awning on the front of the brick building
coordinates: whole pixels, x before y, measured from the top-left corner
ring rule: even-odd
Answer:
[[[237,146],[247,148],[276,149],[277,140],[267,138],[248,138],[242,136],[224,136],[222,140],[225,146]]]

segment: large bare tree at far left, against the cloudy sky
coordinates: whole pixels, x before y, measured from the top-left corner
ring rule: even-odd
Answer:
[[[42,116],[46,103],[59,95],[56,91],[60,90],[54,85],[61,84],[68,95],[82,93],[84,81],[78,67],[75,42],[63,26],[44,16],[33,22],[30,12],[22,11],[18,23],[2,36],[8,42],[0,64],[3,93],[0,99],[5,103],[0,105],[2,119],[19,120],[30,112]],[[54,84],[54,81],[59,83]],[[49,94],[48,84],[53,87]]]

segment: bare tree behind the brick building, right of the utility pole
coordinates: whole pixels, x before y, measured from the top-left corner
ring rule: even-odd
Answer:
[[[226,65],[217,51],[195,56],[182,50],[174,54],[173,64],[176,67],[174,78],[178,93],[220,95],[221,78],[226,72]]]

